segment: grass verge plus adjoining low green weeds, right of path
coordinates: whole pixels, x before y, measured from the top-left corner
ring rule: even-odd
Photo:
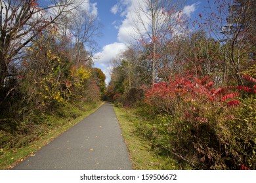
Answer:
[[[135,109],[121,107],[115,107],[114,109],[128,146],[133,169],[194,169],[188,163],[177,160],[174,154],[160,151],[154,147],[155,142],[148,138],[151,125],[144,118],[137,115]]]

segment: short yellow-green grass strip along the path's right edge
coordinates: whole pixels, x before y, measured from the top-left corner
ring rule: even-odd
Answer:
[[[121,125],[123,137],[127,144],[129,155],[136,170],[180,169],[175,159],[158,154],[151,144],[137,133],[139,119],[131,110],[114,107]]]

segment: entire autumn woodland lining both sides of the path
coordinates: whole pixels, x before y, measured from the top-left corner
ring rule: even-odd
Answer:
[[[133,112],[159,154],[256,169],[255,1],[208,1],[194,21],[176,1],[142,1],[139,36],[112,60],[108,84],[84,1],[0,1],[0,157],[107,100]]]

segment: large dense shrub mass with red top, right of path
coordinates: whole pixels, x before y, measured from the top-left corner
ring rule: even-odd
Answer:
[[[199,78],[155,84],[146,92],[150,116],[140,130],[155,148],[179,155],[194,167],[255,169],[255,89],[244,89],[253,93],[232,87],[215,90],[213,82]]]

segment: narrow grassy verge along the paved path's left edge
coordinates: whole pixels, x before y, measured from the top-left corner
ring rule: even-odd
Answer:
[[[33,141],[29,140],[31,142],[28,142],[28,139],[24,136],[20,137],[22,139],[20,139],[21,145],[19,148],[0,148],[0,169],[11,169],[28,156],[33,156],[33,152],[53,141],[58,135],[64,133],[64,131],[79,123],[83,118],[95,112],[102,104],[102,102],[98,102],[96,105],[86,104],[81,106],[82,110],[77,110],[77,107],[71,106],[66,109],[64,108],[63,112],[67,114],[62,116],[62,118],[43,114],[41,118],[45,119],[45,123],[40,126],[41,132]],[[72,116],[66,118],[68,112]],[[24,141],[24,144],[22,144],[22,141]]]

